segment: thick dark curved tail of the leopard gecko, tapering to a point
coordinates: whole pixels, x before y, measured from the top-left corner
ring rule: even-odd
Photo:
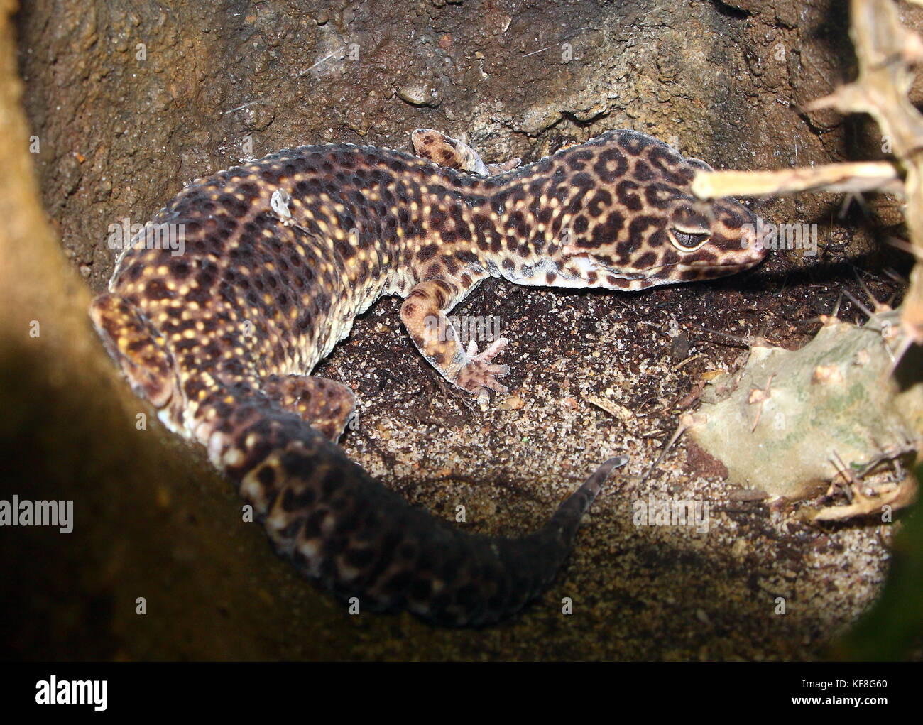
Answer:
[[[454,627],[508,618],[551,584],[605,478],[628,461],[606,461],[533,534],[487,537],[408,505],[260,393],[235,397],[200,408],[199,440],[275,549],[360,613],[410,610]]]

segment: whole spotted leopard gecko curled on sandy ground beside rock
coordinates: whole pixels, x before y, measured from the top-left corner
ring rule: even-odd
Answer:
[[[478,352],[447,318],[485,279],[641,290],[739,272],[765,250],[746,206],[691,195],[711,166],[640,132],[526,165],[485,164],[433,129],[412,140],[414,154],[300,146],[194,181],[122,250],[90,319],[135,393],[205,447],[299,572],[363,610],[484,626],[552,583],[627,458],[596,468],[531,534],[464,532],[343,453],[354,394],[311,370],[358,314],[397,295],[438,373],[505,393],[508,341]],[[182,230],[182,254],[152,243],[158,225]]]

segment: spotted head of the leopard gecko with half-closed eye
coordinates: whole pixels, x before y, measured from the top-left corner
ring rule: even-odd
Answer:
[[[697,199],[690,184],[712,167],[634,131],[600,139],[596,176],[555,254],[565,279],[643,289],[746,270],[766,255],[761,219],[736,199]],[[592,172],[592,173],[591,173]]]

